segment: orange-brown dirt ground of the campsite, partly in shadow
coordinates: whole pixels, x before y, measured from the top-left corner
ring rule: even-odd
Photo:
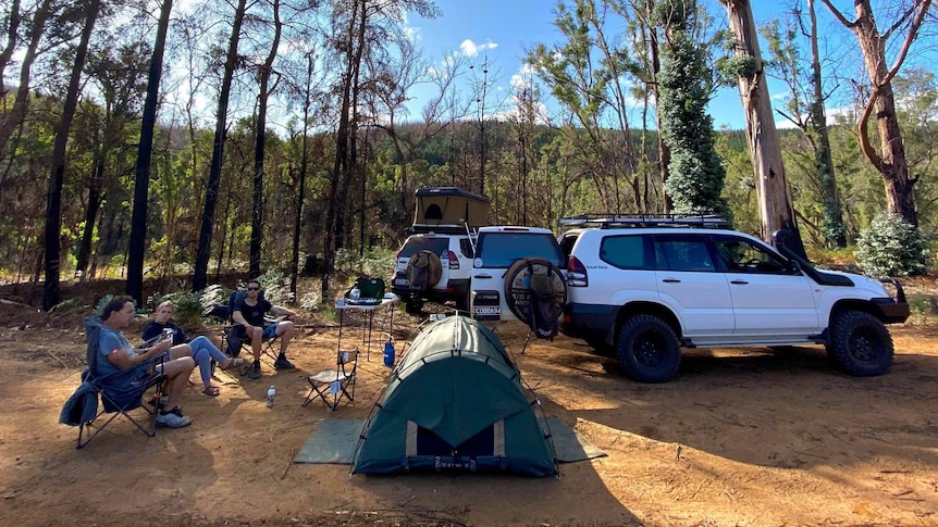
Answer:
[[[58,417],[84,367],[79,315],[0,305],[3,525],[938,526],[934,321],[891,327],[881,377],[839,374],[819,347],[695,350],[664,385],[624,378],[582,341],[524,348],[503,326],[546,414],[608,456],[560,465],[559,478],[349,478],[347,465],[292,460],[321,419],[367,416],[388,374],[378,346],[355,404],[336,412],[300,406],[337,337],[310,317],[291,346],[297,371],[220,373],[220,397],[183,396],[190,427],[147,438],[115,422],[76,450]],[[398,344],[418,323],[395,313]]]

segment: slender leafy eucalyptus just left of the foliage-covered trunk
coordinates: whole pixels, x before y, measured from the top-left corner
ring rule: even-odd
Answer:
[[[645,210],[644,192],[634,180],[635,155],[629,124],[626,79],[634,67],[627,50],[607,35],[609,8],[595,0],[558,2],[554,25],[564,41],[539,43],[527,61],[551,87],[553,97],[568,112],[564,134],[576,152],[581,177],[591,181],[607,211]],[[621,12],[615,13],[621,15]],[[621,195],[630,185],[632,199]]]

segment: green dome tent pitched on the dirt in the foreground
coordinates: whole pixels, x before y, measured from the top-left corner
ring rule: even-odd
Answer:
[[[557,474],[536,400],[502,342],[472,318],[427,326],[361,432],[351,473],[421,469]],[[529,399],[530,397],[530,399]]]

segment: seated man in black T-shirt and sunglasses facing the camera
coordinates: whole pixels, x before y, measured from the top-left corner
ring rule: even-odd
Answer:
[[[252,379],[260,378],[260,350],[261,343],[264,340],[280,337],[280,355],[273,363],[273,367],[277,369],[293,369],[296,366],[286,360],[286,347],[289,346],[289,339],[293,337],[293,322],[280,321],[274,324],[264,326],[263,315],[269,311],[275,315],[286,315],[296,318],[296,312],[280,305],[273,305],[266,299],[258,299],[260,294],[260,283],[256,279],[247,283],[247,296],[234,308],[232,319],[240,327],[243,335],[250,338],[251,351],[254,352],[254,365],[250,368],[249,376]]]

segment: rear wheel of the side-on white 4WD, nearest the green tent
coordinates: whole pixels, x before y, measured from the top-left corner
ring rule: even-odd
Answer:
[[[622,324],[616,341],[619,364],[640,382],[666,382],[681,364],[675,330],[654,315],[634,315]]]

